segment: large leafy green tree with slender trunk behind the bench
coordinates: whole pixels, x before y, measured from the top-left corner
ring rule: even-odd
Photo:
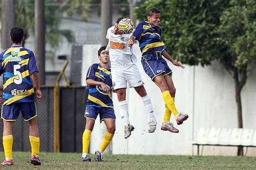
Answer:
[[[238,127],[242,128],[241,90],[256,62],[256,2],[227,0],[154,0],[136,11],[145,19],[149,8],[161,13],[163,39],[173,58],[189,65],[219,60],[235,82]],[[238,149],[238,155],[242,148]]]

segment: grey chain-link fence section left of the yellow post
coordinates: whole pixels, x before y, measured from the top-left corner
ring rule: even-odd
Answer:
[[[54,126],[53,126],[53,89],[54,87],[41,87],[42,99],[36,99],[37,121],[40,135],[40,151],[53,152]],[[0,123],[0,134],[3,134],[3,121]],[[14,135],[13,151],[31,151],[29,141],[29,124],[24,121],[22,114],[12,130]],[[2,139],[1,139],[2,141]],[[3,145],[0,145],[3,151]]]

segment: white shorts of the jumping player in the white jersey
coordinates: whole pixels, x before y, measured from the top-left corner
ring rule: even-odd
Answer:
[[[143,85],[142,76],[140,76],[136,64],[122,68],[111,68],[111,76],[114,90],[127,88],[127,82],[130,88]]]

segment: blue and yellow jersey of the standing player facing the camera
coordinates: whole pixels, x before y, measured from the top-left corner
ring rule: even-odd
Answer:
[[[112,78],[110,71],[110,68],[104,68],[100,65],[100,63],[92,64],[87,71],[86,79],[90,78],[95,81],[101,81],[108,85],[111,89]],[[87,85],[86,89],[89,93],[86,106],[113,108],[111,92],[105,93],[100,85]]]

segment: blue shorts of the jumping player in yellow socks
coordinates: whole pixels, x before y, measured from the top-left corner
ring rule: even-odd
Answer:
[[[172,70],[167,65],[166,60],[163,57],[159,56],[161,55],[158,54],[157,56],[156,53],[146,57],[142,57],[143,69],[146,72],[147,76],[151,78],[151,80],[153,80],[160,74],[163,74],[163,76],[170,74],[170,76],[172,76]]]

